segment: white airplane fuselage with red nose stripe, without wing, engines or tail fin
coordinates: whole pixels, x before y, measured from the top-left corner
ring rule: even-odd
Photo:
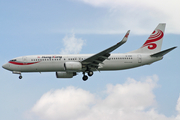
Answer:
[[[65,71],[64,63],[71,61],[82,61],[93,54],[76,55],[32,55],[14,58],[3,67],[17,72],[56,72]],[[142,65],[151,64],[161,60],[162,57],[151,57],[149,54],[111,54],[107,60],[99,64],[99,71],[123,70]],[[93,69],[96,71],[97,69]],[[76,71],[76,72],[82,72]]]

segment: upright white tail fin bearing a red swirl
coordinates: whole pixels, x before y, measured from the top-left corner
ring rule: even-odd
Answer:
[[[147,41],[143,44],[143,46],[135,51],[132,51],[131,53],[157,53],[161,51],[165,26],[165,23],[160,23],[149,36]]]

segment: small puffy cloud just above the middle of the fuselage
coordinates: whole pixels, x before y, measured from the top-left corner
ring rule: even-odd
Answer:
[[[65,48],[61,49],[61,54],[78,54],[81,51],[82,46],[85,44],[85,41],[76,38],[75,34],[72,33],[63,38],[63,44]]]

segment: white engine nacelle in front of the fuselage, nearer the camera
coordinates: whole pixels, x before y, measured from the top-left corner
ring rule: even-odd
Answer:
[[[80,62],[65,62],[64,69],[70,72],[77,72],[82,70],[82,64]]]

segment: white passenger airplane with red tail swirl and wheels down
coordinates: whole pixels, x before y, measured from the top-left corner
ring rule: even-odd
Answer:
[[[82,72],[82,79],[86,81],[95,71],[124,70],[150,65],[162,60],[165,54],[176,48],[161,51],[165,26],[165,23],[160,23],[142,47],[128,53],[111,52],[127,41],[130,30],[120,42],[97,54],[22,56],[10,60],[2,67],[13,74],[19,74],[19,79],[22,79],[21,73],[24,72],[55,72],[57,78],[73,78]]]

